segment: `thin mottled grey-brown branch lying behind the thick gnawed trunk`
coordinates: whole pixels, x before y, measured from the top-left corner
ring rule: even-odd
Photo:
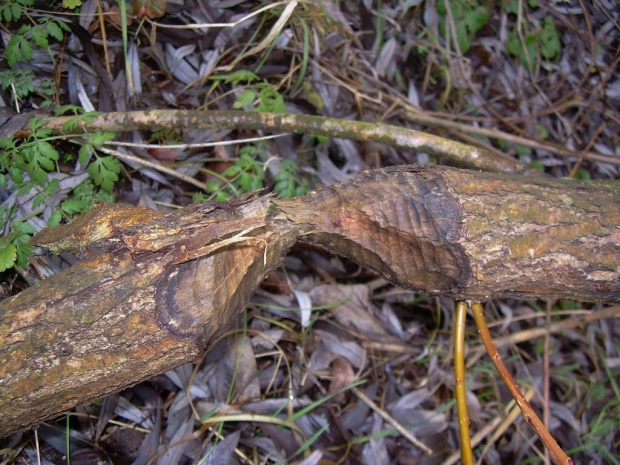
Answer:
[[[154,131],[156,129],[238,129],[282,131],[294,134],[314,134],[359,141],[373,141],[410,150],[427,152],[445,165],[479,169],[495,173],[521,173],[539,176],[541,173],[508,156],[498,156],[485,149],[472,147],[422,131],[383,123],[349,121],[324,116],[279,114],[246,111],[145,110],[111,112],[98,116],[58,116],[45,119],[45,127],[54,134],[66,134],[65,126],[72,122],[73,132],[94,131]],[[29,134],[21,130],[22,138]]]

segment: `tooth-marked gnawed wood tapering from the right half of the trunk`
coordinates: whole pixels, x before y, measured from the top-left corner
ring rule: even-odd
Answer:
[[[470,274],[462,207],[438,171],[398,167],[275,203],[306,238],[401,286],[454,293]]]

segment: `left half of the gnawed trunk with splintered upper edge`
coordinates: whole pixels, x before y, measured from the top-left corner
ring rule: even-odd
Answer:
[[[61,246],[37,235],[56,250],[93,242],[82,242],[84,261],[0,304],[0,434],[198,359],[296,240],[287,224],[265,223],[268,206],[250,196],[149,221],[118,207],[127,221],[104,233],[66,226],[54,233]],[[205,244],[208,255],[179,260]]]

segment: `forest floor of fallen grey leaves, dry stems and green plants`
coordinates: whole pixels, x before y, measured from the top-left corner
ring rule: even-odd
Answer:
[[[124,1],[52,5],[0,5],[0,138],[31,111],[289,112],[419,129],[557,177],[620,178],[614,0],[134,0],[126,15]],[[62,139],[49,144],[56,155],[21,163],[2,146],[1,224],[13,242],[0,246],[15,252],[11,263],[0,253],[4,296],[68,265],[32,256],[27,239],[95,200],[170,209],[257,188],[295,196],[364,169],[436,162],[313,135],[100,136],[149,167]],[[72,464],[457,463],[454,306],[300,245],[201,363],[3,439],[2,463],[68,463],[67,448]],[[620,464],[620,319],[566,325],[602,308],[485,304],[504,360],[575,463]],[[550,463],[473,320],[466,336],[476,458]]]

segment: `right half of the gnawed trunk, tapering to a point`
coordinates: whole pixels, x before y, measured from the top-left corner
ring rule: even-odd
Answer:
[[[274,200],[303,239],[421,293],[620,298],[620,186],[392,167]]]

